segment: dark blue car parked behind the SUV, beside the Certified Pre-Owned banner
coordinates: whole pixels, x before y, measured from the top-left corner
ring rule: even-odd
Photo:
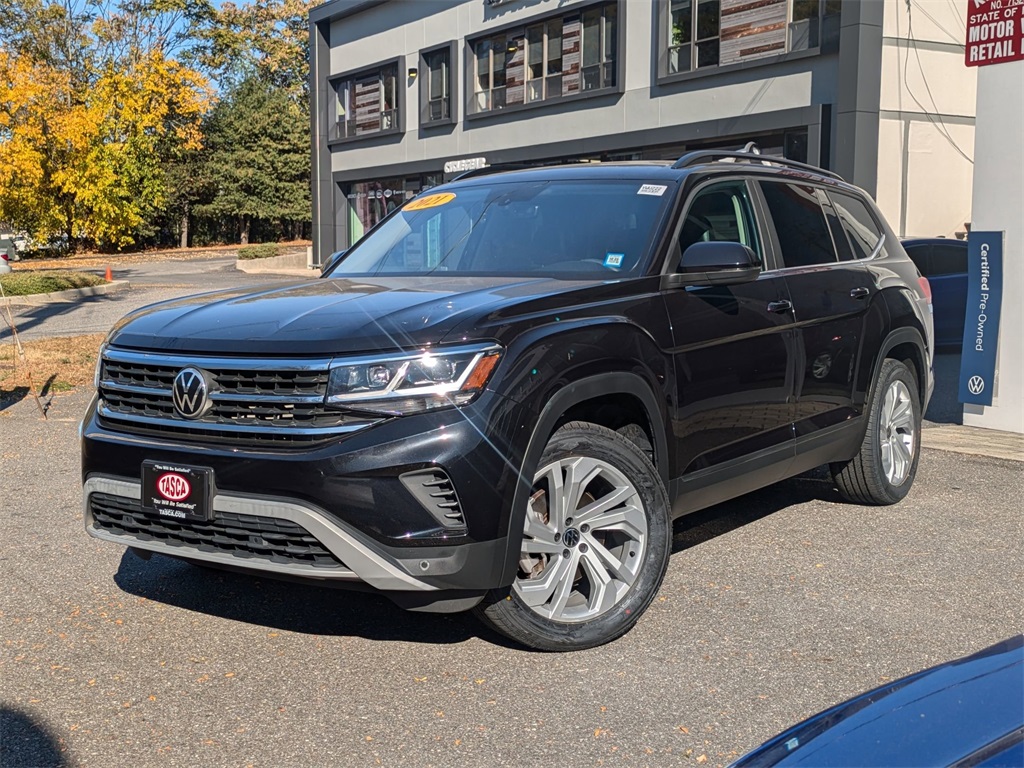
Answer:
[[[922,238],[904,240],[903,248],[932,287],[936,346],[961,346],[967,314],[967,241]]]

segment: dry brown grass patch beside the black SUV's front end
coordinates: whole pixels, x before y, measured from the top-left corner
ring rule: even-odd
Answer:
[[[31,382],[44,396],[92,386],[96,354],[105,334],[63,336],[22,343],[28,366],[12,339],[0,340],[0,408],[29,395]]]

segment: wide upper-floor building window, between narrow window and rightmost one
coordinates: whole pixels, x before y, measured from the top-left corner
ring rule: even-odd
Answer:
[[[476,114],[538,103],[618,82],[618,4],[593,5],[470,41]]]

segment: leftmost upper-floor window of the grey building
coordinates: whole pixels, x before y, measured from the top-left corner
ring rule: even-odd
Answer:
[[[400,129],[397,61],[331,82],[336,94],[332,139]]]

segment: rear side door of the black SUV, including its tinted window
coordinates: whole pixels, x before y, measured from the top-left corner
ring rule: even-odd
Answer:
[[[860,413],[855,374],[876,288],[823,191],[793,181],[762,180],[759,185],[798,331],[799,441]]]

